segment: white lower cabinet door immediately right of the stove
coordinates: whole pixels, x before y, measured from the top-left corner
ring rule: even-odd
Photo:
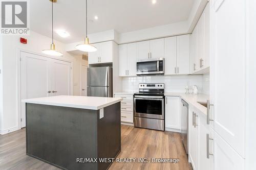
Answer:
[[[180,97],[165,98],[165,128],[180,130]]]

